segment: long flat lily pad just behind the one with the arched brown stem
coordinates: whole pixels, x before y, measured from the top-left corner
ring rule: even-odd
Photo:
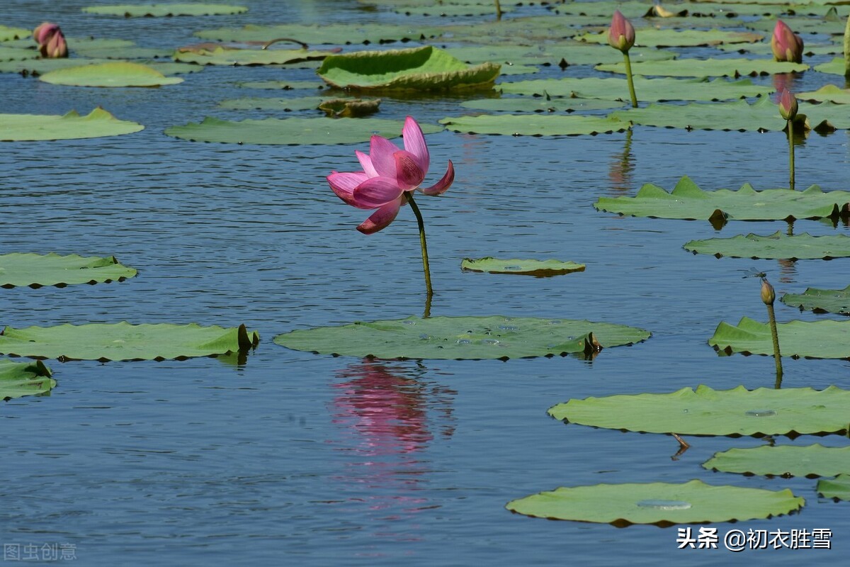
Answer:
[[[293,37],[304,43],[352,44],[381,43],[428,39],[437,37],[443,29],[433,26],[407,26],[394,24],[328,24],[326,26],[305,26],[303,24],[284,24],[281,26],[254,26],[241,28],[218,28],[217,30],[196,31],[195,36],[218,42],[270,42],[278,37]]]

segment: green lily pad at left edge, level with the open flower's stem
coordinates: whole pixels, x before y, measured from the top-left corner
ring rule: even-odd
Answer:
[[[82,257],[77,254],[3,254],[0,255],[0,287],[57,286],[124,281],[136,270],[118,264],[115,256]]]

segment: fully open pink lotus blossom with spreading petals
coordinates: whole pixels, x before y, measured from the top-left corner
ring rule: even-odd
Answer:
[[[398,146],[382,136],[372,136],[368,156],[362,151],[354,151],[363,171],[332,172],[327,176],[333,192],[349,205],[362,209],[377,208],[371,217],[357,227],[365,235],[371,235],[392,223],[400,207],[407,203],[407,195],[411,191],[419,190],[425,195],[437,196],[449,189],[455,180],[455,167],[449,161],[443,179],[426,189],[420,188],[431,162],[428,145],[425,144],[422,128],[411,116],[407,116],[401,133],[404,136],[404,150],[399,150]]]

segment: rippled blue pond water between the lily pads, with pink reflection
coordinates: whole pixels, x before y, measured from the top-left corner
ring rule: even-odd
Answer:
[[[400,18],[331,0],[249,0],[242,4],[251,12],[241,16],[165,20],[88,16],[79,9],[90,3],[61,4],[15,0],[0,15],[7,25],[54,20],[69,37],[122,37],[144,47],[192,43],[192,31],[251,22]],[[786,224],[731,222],[718,232],[701,221],[598,213],[592,203],[633,195],[646,182],[672,189],[683,174],[706,189],[784,186],[783,133],[635,128],[631,141],[626,133],[428,135],[433,180],[449,159],[457,171],[445,197],[419,200],[436,290],[432,315],[606,320],[653,337],[606,349],[592,362],[334,358],[283,349],[271,339],[292,329],[421,315],[424,304],[409,211],[377,235],[360,235],[354,227],[368,213],[343,205],[326,185],[331,170],[357,168],[354,149],[365,145],[218,145],[163,134],[204,116],[280,116],[215,107],[238,96],[283,95],[238,82],[311,80],[313,72],[207,67],[157,89],[0,77],[4,112],[102,105],[146,127],[114,138],[0,145],[3,252],[114,254],[139,269],[120,284],[3,290],[4,325],[245,323],[263,337],[243,361],[50,362],[58,382],[50,395],[0,408],[3,544],[67,543],[86,565],[847,559],[848,504],[819,498],[816,480],[700,467],[716,451],[765,439],[688,438],[693,447],[673,460],[672,437],[564,425],[546,414],[556,403],[587,396],[774,384],[771,358],[718,357],[706,344],[721,320],[765,319],[757,281],[742,279],[740,270],[766,269],[779,296],[847,286],[846,258],[780,264],[694,256],[684,242],[767,235]],[[838,78],[809,71],[800,86]],[[462,109],[451,97],[384,99],[381,116],[407,114],[433,123]],[[813,133],[796,150],[797,184],[847,190],[847,141],[845,131]],[[848,232],[817,221],[798,221],[795,231]],[[549,279],[460,271],[462,258],[489,255],[573,260],[587,271]],[[824,317],[780,303],[777,316]],[[848,369],[847,360],[786,359],[784,386],[847,388]],[[775,440],[847,445],[835,435]],[[690,479],[790,488],[806,498],[801,513],[713,524],[721,535],[733,528],[826,528],[833,549],[677,550],[683,526],[618,529],[504,509],[514,498],[558,486]]]

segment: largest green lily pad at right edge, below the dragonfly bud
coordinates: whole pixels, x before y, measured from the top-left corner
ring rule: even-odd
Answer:
[[[781,337],[779,343],[785,344]],[[700,385],[670,394],[570,400],[548,413],[579,425],[640,433],[796,436],[846,433],[848,404],[850,391],[835,386],[714,390]]]

